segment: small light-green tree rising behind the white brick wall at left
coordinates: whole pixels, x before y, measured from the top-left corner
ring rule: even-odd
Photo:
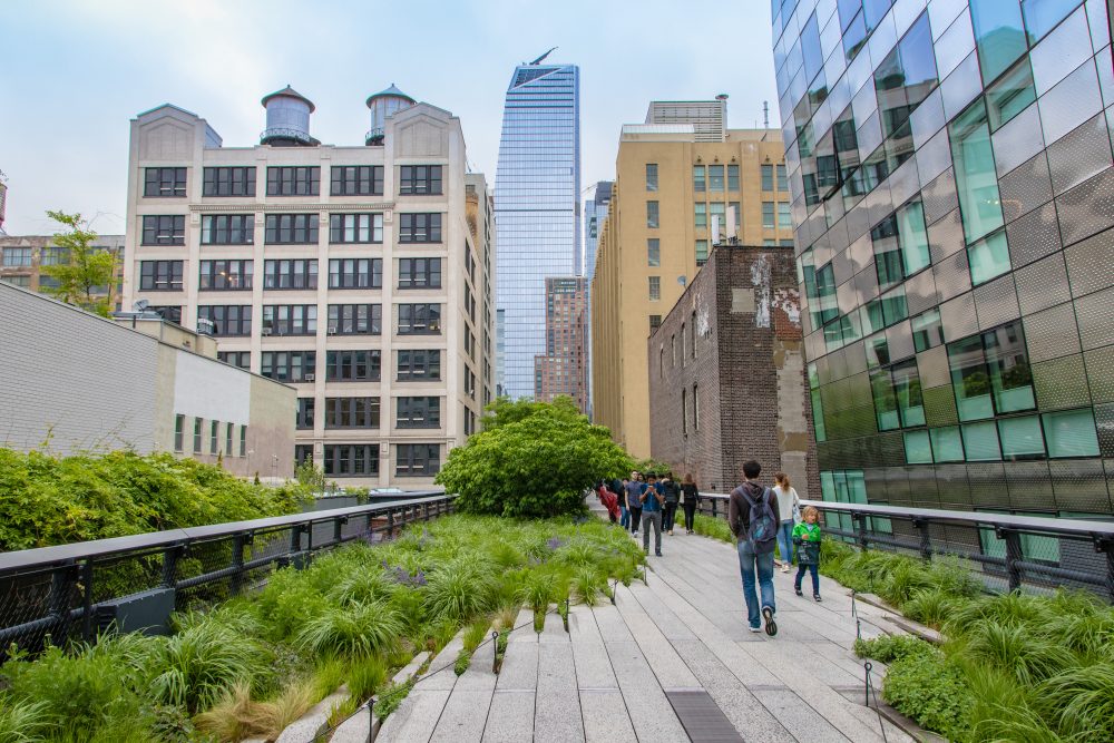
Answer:
[[[58,283],[57,286],[43,287],[43,292],[107,317],[114,305],[116,252],[94,246],[97,233],[88,229],[80,214],[47,212],[47,216],[68,227],[69,232],[55,234],[55,245],[66,251],[67,260],[42,266],[42,273]],[[107,294],[98,296],[98,290],[105,286],[108,287]]]

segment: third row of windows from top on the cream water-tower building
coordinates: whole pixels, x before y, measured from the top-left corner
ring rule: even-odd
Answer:
[[[140,261],[139,289],[180,291],[183,261]],[[201,261],[198,289],[253,289],[254,261]],[[330,258],[329,289],[382,289],[382,258]],[[440,289],[441,258],[399,258],[399,289]],[[276,258],[263,263],[263,289],[317,289],[317,258]]]

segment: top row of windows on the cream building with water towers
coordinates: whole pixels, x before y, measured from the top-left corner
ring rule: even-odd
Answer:
[[[442,193],[441,165],[402,165],[399,167],[399,194],[432,196]],[[144,196],[182,198],[186,196],[184,167],[153,167],[144,170]],[[321,193],[320,166],[268,166],[267,196],[317,196]],[[330,167],[330,194],[333,196],[381,196],[382,165],[334,165]],[[202,176],[202,196],[255,196],[255,167],[207,167]]]

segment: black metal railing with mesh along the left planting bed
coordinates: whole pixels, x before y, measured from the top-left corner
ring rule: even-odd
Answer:
[[[169,615],[265,584],[277,567],[353,540],[387,539],[452,512],[456,496],[397,500],[0,553],[0,648],[48,636],[92,642],[108,626],[166,632]]]

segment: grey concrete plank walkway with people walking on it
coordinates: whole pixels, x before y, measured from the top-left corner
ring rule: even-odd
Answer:
[[[614,606],[574,606],[568,634],[550,615],[537,635],[524,612],[498,676],[490,643],[456,676],[459,646],[450,644],[432,666],[444,669],[419,682],[377,740],[882,741],[878,715],[861,704],[846,589],[821,578],[824,600],[815,604],[793,595],[791,575],[775,573],[780,632],[755,635],[734,549],[680,532],[663,542],[647,584],[620,585]],[[880,617],[859,604],[863,636],[892,628]],[[703,705],[695,717],[686,712],[693,705]],[[886,736],[912,740],[889,723]]]

